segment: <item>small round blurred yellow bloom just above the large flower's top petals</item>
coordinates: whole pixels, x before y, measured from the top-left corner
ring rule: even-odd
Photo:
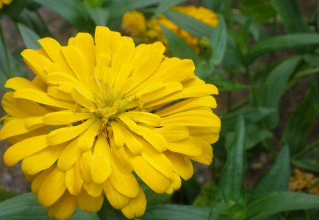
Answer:
[[[129,11],[122,18],[123,33],[131,37],[143,37],[146,30],[145,17],[139,11]]]

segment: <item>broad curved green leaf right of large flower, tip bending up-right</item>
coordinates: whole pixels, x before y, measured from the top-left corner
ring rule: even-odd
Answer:
[[[284,94],[286,84],[300,61],[301,57],[299,56],[290,57],[289,59],[285,59],[284,62],[281,62],[270,72],[264,84],[256,88],[256,103],[258,106],[278,109],[279,100],[281,95]],[[276,127],[278,122],[278,110],[265,119],[267,128]]]

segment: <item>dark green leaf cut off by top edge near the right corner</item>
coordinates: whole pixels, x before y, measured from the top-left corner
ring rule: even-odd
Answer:
[[[272,0],[288,33],[305,33],[309,28],[301,18],[296,0]]]

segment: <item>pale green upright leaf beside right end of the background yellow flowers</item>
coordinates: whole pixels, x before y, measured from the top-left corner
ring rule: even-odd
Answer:
[[[218,26],[209,37],[213,49],[213,64],[219,64],[223,60],[227,42],[225,19],[223,16],[218,19]]]

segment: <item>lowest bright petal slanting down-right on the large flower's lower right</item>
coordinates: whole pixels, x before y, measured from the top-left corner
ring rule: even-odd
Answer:
[[[162,173],[150,166],[142,156],[133,156],[131,158],[135,173],[157,193],[164,193],[170,185],[170,181]]]

